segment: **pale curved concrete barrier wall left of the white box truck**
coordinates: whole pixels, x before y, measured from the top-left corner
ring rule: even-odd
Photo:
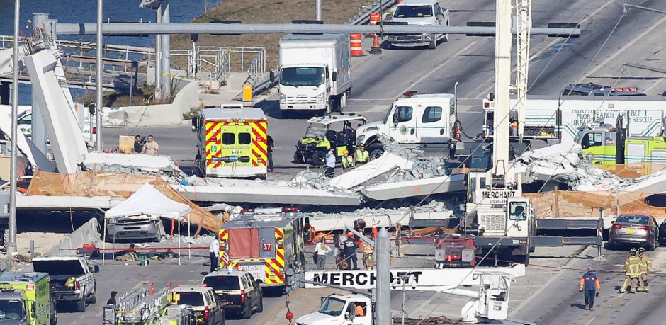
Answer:
[[[127,125],[131,127],[154,127],[177,125],[183,122],[183,114],[200,105],[196,80],[174,77],[173,85],[178,89],[170,104],[125,106]]]

